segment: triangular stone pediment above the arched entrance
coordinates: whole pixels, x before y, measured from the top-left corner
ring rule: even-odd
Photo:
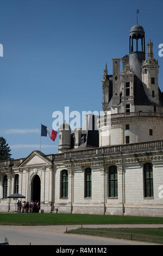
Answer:
[[[38,166],[41,164],[49,164],[51,160],[49,160],[41,151],[33,151],[26,159],[20,164],[19,167],[25,166]]]

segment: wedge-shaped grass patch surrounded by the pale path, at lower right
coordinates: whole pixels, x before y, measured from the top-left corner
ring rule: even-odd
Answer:
[[[163,228],[79,228],[67,233],[163,244]]]

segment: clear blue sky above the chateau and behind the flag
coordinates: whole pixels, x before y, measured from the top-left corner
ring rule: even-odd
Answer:
[[[1,0],[0,136],[11,145],[12,157],[39,150],[37,129],[40,123],[52,128],[54,111],[65,106],[81,113],[102,111],[105,63],[112,74],[111,59],[128,54],[136,9],[146,32],[146,51],[149,39],[154,43],[162,91],[161,0]],[[45,154],[58,152],[58,138],[42,137],[42,145]]]

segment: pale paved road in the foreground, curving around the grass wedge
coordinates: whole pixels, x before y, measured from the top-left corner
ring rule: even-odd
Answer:
[[[66,228],[75,229],[81,225],[52,225],[52,226],[11,226],[0,225],[0,242],[4,242],[5,237],[10,245],[152,245],[152,243],[119,240],[104,237],[65,234]],[[163,225],[83,225],[90,227],[162,227]]]

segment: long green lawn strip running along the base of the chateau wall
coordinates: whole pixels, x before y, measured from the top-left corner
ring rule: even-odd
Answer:
[[[0,214],[1,225],[163,224],[162,217],[89,214]]]

